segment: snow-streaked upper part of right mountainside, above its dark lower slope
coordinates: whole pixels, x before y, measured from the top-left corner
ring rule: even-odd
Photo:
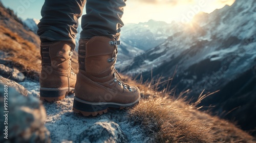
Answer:
[[[246,3],[237,0],[232,6],[215,10],[200,19],[200,16],[205,14],[200,13],[195,17],[193,23],[186,25],[183,31],[174,33],[160,45],[136,57],[133,65],[126,67],[126,70],[131,75],[151,72],[152,67],[159,68],[160,65],[173,63],[177,58],[180,60],[174,64],[179,64],[179,68],[187,69],[206,59],[209,62],[223,62],[234,52],[245,55],[242,58],[243,61],[246,65],[252,65],[253,59],[256,58],[256,13],[253,0]],[[249,59],[246,61],[245,58]],[[239,66],[244,67],[245,65],[240,64]],[[239,73],[243,73],[248,68],[246,66],[243,70],[239,70]],[[235,73],[237,74],[237,72]]]

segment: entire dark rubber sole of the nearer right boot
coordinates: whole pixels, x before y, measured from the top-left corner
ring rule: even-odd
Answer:
[[[134,107],[139,103],[139,99],[137,99],[133,103],[129,104],[120,104],[120,103],[112,103],[112,102],[100,102],[100,103],[92,103],[80,100],[78,98],[74,98],[73,111],[75,113],[81,113],[83,116],[97,116],[103,113],[108,112],[109,108],[113,109],[125,109]]]

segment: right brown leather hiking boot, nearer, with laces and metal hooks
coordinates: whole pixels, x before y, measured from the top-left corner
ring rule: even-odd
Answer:
[[[96,116],[108,108],[123,109],[139,102],[139,89],[123,83],[115,69],[117,44],[120,41],[105,36],[79,41],[75,113]]]

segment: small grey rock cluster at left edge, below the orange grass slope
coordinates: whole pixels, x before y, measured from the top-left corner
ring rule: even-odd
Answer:
[[[0,64],[0,74],[3,77],[14,80],[16,82],[22,82],[25,80],[25,76],[19,70],[10,68],[3,64]]]

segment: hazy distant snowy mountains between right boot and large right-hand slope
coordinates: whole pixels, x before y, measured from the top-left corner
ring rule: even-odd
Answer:
[[[122,71],[124,67],[131,65],[134,57],[161,44],[169,36],[182,31],[183,26],[175,21],[166,23],[156,20],[125,25],[121,29],[121,45],[119,45],[116,67]]]

